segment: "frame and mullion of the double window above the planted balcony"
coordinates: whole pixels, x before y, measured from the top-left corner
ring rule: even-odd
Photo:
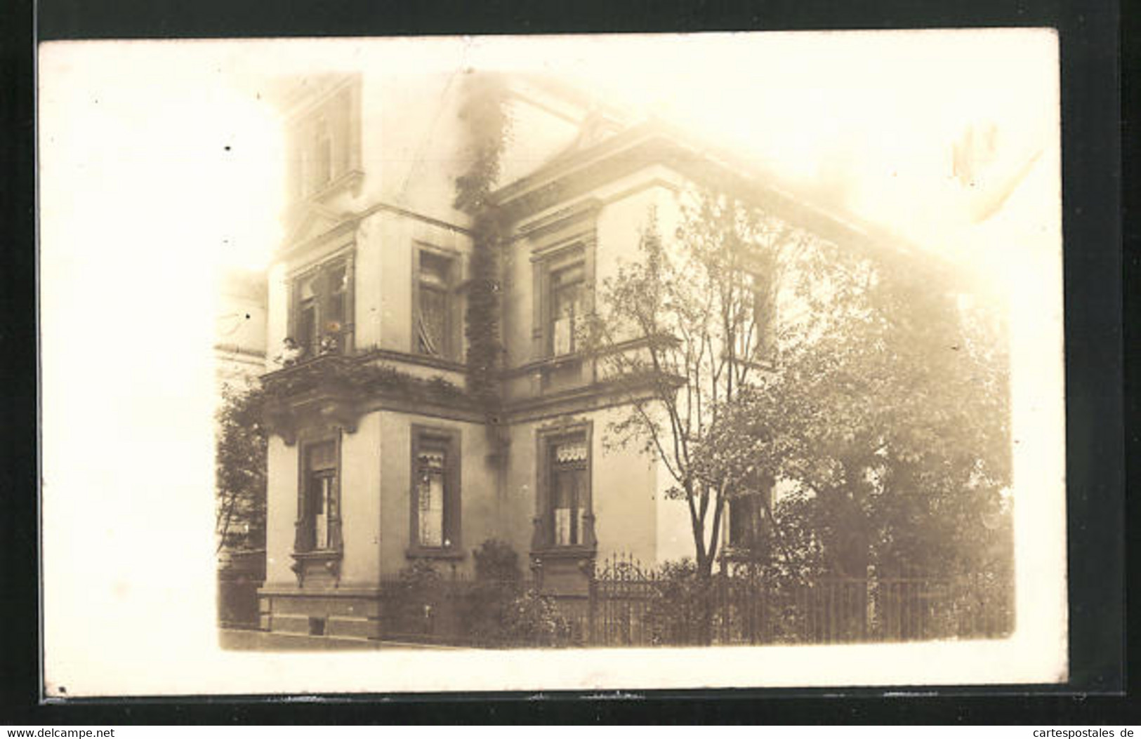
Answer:
[[[332,276],[338,269],[345,269],[345,290],[342,292],[337,291],[332,285]],[[301,289],[307,281],[314,279],[317,287],[314,290],[314,335],[311,336],[313,344],[306,343],[309,338],[301,336],[300,331],[302,326],[302,303],[306,300],[301,298]],[[321,344],[326,336],[333,336],[337,340],[337,350],[334,354],[351,354],[353,352],[353,340],[354,332],[356,330],[355,315],[354,315],[354,300],[355,300],[355,283],[356,273],[354,270],[354,255],[351,251],[342,252],[330,257],[316,265],[310,265],[305,269],[296,273],[290,278],[290,310],[289,310],[289,326],[288,335],[291,336],[297,346],[304,351],[301,354],[301,362],[313,359],[315,357],[325,354],[321,350]],[[342,306],[341,314],[342,318],[339,322],[340,330],[337,332],[325,331],[330,323],[329,314],[332,312],[333,297],[340,294]]]

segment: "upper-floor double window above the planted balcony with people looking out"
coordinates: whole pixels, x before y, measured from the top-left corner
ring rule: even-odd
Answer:
[[[294,278],[290,335],[302,359],[351,348],[351,298],[349,259],[326,262]]]

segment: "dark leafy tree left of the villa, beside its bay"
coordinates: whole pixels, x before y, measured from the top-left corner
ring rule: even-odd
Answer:
[[[266,545],[266,445],[260,389],[224,385],[215,461],[218,550]]]

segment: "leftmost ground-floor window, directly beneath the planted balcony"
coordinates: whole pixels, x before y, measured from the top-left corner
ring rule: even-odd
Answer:
[[[340,549],[340,487],[337,441],[302,448],[301,489],[294,550],[322,552]]]

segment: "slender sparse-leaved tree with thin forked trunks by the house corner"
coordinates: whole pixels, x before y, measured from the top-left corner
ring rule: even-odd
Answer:
[[[719,416],[769,366],[778,292],[807,285],[803,277],[824,261],[827,245],[710,193],[682,201],[674,236],[663,239],[650,214],[639,259],[621,263],[600,286],[584,342],[605,376],[630,384],[608,444],[632,445],[664,463],[670,495],[689,513],[696,576],[707,579],[726,504],[745,481],[703,474],[701,454]]]

